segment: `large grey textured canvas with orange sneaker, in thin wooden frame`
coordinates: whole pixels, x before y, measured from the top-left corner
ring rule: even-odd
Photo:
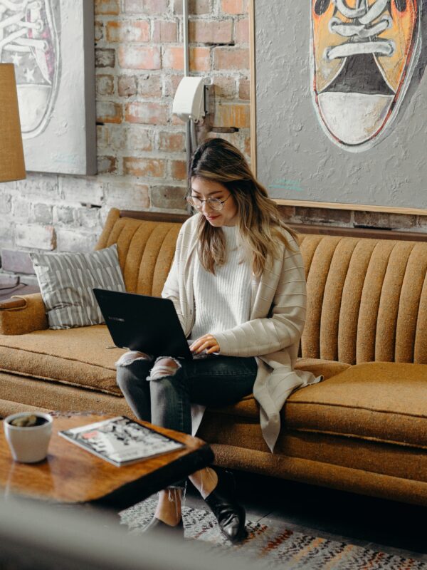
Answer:
[[[251,0],[251,16],[270,194],[427,214],[427,1]]]

